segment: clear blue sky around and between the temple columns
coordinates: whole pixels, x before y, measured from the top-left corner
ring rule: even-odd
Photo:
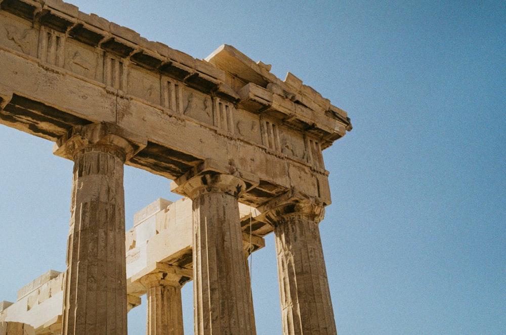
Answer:
[[[196,58],[234,45],[348,111],[320,224],[340,335],[506,334],[506,2],[73,4]],[[72,162],[51,148],[0,126],[0,301],[65,269]],[[127,229],[169,183],[126,167]],[[281,333],[273,242],[252,261],[259,335]]]

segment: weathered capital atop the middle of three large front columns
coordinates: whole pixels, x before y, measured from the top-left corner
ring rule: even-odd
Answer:
[[[192,200],[206,193],[225,193],[238,198],[258,184],[255,175],[208,159],[174,180],[171,191]]]

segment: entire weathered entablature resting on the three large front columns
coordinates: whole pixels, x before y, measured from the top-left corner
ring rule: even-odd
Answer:
[[[55,0],[0,8],[0,122],[54,141],[115,123],[147,138],[127,164],[175,179],[214,159],[260,178],[243,203],[297,187],[330,204],[321,150],[351,125],[292,74],[229,45],[197,60]]]

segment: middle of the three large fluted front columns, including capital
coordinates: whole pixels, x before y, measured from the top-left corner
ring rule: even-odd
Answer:
[[[197,167],[171,188],[193,201],[195,334],[254,334],[237,202],[245,182]]]

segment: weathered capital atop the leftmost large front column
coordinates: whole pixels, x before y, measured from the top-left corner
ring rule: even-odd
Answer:
[[[56,141],[53,154],[74,160],[78,152],[99,147],[128,161],[146,147],[146,144],[146,138],[126,131],[116,124],[92,123],[72,127]]]

